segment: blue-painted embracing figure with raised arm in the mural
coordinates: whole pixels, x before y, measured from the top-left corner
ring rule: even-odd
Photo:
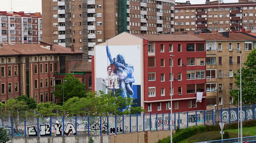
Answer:
[[[119,77],[119,87],[121,88],[121,96],[123,98],[129,97],[132,98],[133,90],[132,90],[132,83],[135,82],[133,77],[134,68],[132,65],[125,62],[125,58],[123,55],[118,54],[116,58],[112,58],[108,46],[106,46],[107,50],[107,57],[110,63],[114,63],[117,66],[117,69],[114,71]],[[131,105],[128,105],[126,109],[130,110]]]

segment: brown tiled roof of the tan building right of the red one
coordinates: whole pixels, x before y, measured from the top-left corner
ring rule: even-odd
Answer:
[[[222,33],[200,33],[193,35],[209,41],[256,41],[256,38],[244,33],[229,33],[229,38],[222,36]]]

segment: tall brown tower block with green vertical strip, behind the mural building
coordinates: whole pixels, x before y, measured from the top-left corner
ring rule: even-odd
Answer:
[[[83,51],[121,32],[173,33],[174,0],[49,0],[42,3],[45,42]]]

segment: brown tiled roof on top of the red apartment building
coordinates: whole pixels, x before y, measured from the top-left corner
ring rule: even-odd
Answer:
[[[135,34],[149,41],[204,41],[191,34]]]

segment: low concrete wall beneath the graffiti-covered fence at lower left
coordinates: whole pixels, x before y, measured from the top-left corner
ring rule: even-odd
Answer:
[[[95,143],[108,143],[109,136],[93,136]],[[78,137],[37,137],[37,138],[11,138],[12,143],[88,143],[88,136]]]

